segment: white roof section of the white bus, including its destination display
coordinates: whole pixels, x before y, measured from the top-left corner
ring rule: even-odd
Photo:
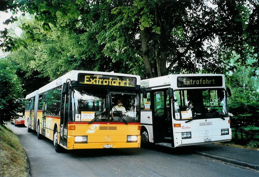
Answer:
[[[215,84],[207,84],[210,83],[210,80],[211,83],[215,82]],[[219,80],[219,82],[216,82],[216,80]],[[189,83],[189,85],[184,85],[183,82]],[[167,76],[141,80],[141,87],[150,89],[162,87],[173,88],[174,90],[198,88],[225,88],[225,76],[223,74],[171,74]]]

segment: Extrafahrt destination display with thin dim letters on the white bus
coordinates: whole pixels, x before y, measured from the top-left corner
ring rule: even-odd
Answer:
[[[177,77],[177,87],[221,87],[222,76]]]

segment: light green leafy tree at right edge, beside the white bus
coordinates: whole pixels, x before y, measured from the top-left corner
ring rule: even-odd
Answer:
[[[231,128],[235,132],[235,141],[241,132],[243,141],[244,133],[247,135],[246,141],[253,140],[253,146],[259,146],[259,68],[251,67],[257,62],[253,57],[249,57],[244,66],[238,62],[240,56],[233,52],[230,67],[235,66],[235,69],[226,75],[226,84],[232,92],[228,109],[232,115]]]

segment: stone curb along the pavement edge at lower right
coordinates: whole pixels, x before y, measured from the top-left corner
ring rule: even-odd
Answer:
[[[257,165],[257,164],[239,161],[239,160],[235,160],[235,159],[227,158],[227,157],[221,157],[221,156],[218,156],[218,155],[208,154],[208,153],[205,153],[205,152],[196,152],[195,154],[202,155],[202,156],[208,157],[208,158],[213,158],[213,159],[220,160],[220,161],[224,161],[224,162],[228,162],[230,164],[235,164],[235,165],[239,165],[239,166],[246,167],[246,168],[247,167],[252,168],[254,170],[259,170],[259,165]]]

